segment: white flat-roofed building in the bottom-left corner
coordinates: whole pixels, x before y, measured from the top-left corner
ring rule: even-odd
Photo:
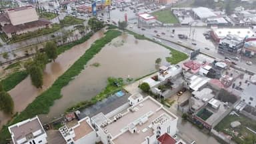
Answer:
[[[37,116],[11,125],[8,129],[15,144],[47,143],[47,134]]]

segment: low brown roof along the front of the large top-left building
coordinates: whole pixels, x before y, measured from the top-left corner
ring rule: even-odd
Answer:
[[[12,25],[11,23],[2,27],[5,33],[17,33],[17,31],[23,31],[32,27],[40,27],[43,25],[49,25],[51,22],[46,19],[39,19],[38,21],[32,21],[23,25]]]

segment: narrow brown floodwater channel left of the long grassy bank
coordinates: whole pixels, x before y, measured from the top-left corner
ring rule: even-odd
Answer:
[[[19,85],[11,89],[9,94],[13,98],[15,105],[15,112],[23,111],[29,103],[31,103],[35,97],[40,95],[43,91],[53,85],[53,82],[62,75],[67,69],[85,53],[91,44],[103,37],[104,31],[99,31],[95,33],[89,40],[80,45],[76,45],[72,49],[65,51],[65,53],[59,55],[55,62],[48,63],[46,65],[45,71],[43,73],[43,89],[37,89],[31,84],[30,77],[27,77]],[[9,116],[3,115],[0,111],[0,128],[2,125],[7,123],[10,119]]]

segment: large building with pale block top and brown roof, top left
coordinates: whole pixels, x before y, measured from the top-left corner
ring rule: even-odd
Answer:
[[[11,38],[12,35],[21,35],[29,31],[36,31],[46,27],[51,27],[51,22],[39,18],[35,7],[25,6],[15,9],[8,9],[0,15],[2,31]]]

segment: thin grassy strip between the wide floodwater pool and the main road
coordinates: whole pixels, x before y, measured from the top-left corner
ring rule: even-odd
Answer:
[[[149,39],[149,38],[145,37],[144,35],[139,35],[137,33],[134,33],[133,31],[129,31],[129,30],[127,30],[127,32],[129,34],[133,35],[136,39],[145,39],[148,41],[152,41],[153,43],[157,43],[157,44],[169,49],[171,51],[171,53],[170,53],[171,57],[166,57],[166,61],[168,61],[172,65],[175,65],[175,64],[179,63],[180,61],[184,61],[185,59],[188,58],[188,56],[185,53],[182,53],[181,51],[177,51],[171,47],[167,47],[166,45],[163,45],[162,43],[153,41],[152,39]]]

